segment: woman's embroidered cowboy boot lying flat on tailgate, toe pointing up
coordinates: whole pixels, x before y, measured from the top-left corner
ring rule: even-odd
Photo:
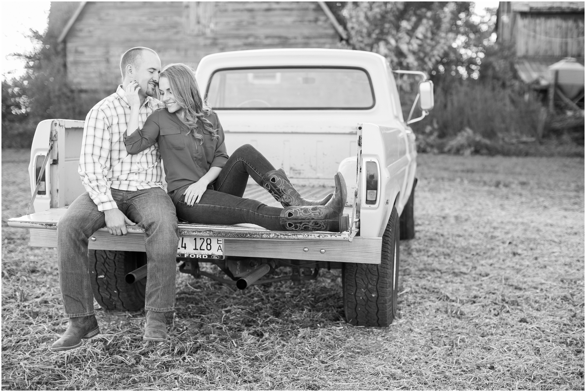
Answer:
[[[346,204],[346,182],[342,173],[336,173],[336,191],[326,205],[291,206],[281,212],[281,227],[286,231],[335,231],[350,228]]]

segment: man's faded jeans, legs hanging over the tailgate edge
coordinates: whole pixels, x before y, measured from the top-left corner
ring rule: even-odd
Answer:
[[[175,206],[161,188],[111,189],[118,209],[145,229],[147,289],[145,310],[169,312],[175,306],[175,257],[179,242]],[[66,317],[94,314],[87,258],[88,238],[105,226],[104,212],[86,192],[67,208],[57,224],[59,286]]]

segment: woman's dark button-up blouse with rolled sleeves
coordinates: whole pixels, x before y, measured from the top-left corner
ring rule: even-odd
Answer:
[[[138,154],[159,143],[167,191],[175,204],[181,196],[178,192],[180,188],[199,181],[212,166],[224,167],[228,160],[224,130],[216,112],[212,111],[206,119],[217,130],[218,137],[214,138],[202,121],[197,121],[195,131],[203,136],[202,144],[175,113],[169,113],[166,109],[155,110],[145,121],[144,127],[130,136],[124,133],[128,154]]]

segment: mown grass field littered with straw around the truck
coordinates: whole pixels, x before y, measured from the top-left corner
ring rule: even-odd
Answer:
[[[66,353],[48,351],[55,251],[6,226],[28,160],[2,154],[3,389],[584,389],[583,158],[420,155],[390,327],[343,322],[339,271],[244,291],[178,275],[170,343],[97,310],[102,334]]]

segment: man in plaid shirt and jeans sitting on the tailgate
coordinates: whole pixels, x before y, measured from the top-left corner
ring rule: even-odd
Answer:
[[[163,190],[157,148],[128,155],[124,134],[130,119],[125,88],[140,87],[139,127],[149,114],[165,107],[154,99],[161,60],[148,48],[128,50],[120,62],[122,85],[87,114],[78,172],[87,192],[67,209],[57,225],[59,286],[69,326],[52,351],[69,350],[100,333],[94,316],[88,271],[88,238],[99,228],[127,234],[126,225],[145,229],[147,249],[147,321],[143,339],[166,340],[165,312],[175,306],[175,255],[179,241],[175,206]],[[134,130],[133,130],[134,131]]]

